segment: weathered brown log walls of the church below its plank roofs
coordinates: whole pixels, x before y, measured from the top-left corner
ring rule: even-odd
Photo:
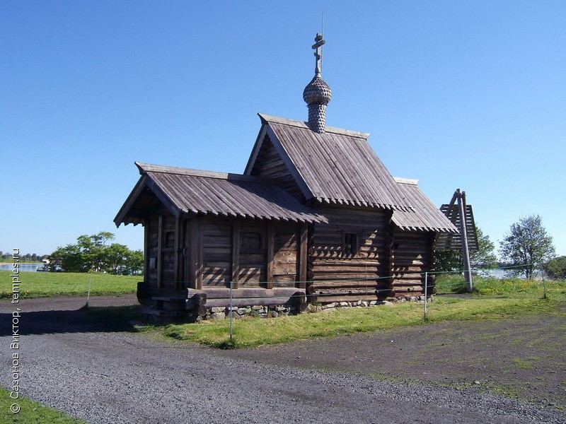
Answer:
[[[305,287],[299,282],[308,280],[309,300],[323,303],[424,293],[423,273],[434,271],[434,233],[392,230],[389,211],[317,210],[328,223],[309,225],[307,232],[298,223],[177,220],[162,208],[146,219],[144,285],[173,292],[229,287],[230,281],[242,288]],[[356,235],[355,252],[347,252],[346,234]],[[432,294],[434,276],[428,282]]]

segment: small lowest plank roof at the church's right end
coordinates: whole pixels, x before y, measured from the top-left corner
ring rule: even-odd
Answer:
[[[417,179],[395,177],[399,189],[410,199],[414,211],[393,211],[393,223],[401,230],[422,230],[457,234],[458,228],[434,206],[417,186]]]

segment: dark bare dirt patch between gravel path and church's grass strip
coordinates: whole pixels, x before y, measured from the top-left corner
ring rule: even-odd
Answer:
[[[566,316],[449,321],[221,351],[272,365],[477,385],[566,408]]]

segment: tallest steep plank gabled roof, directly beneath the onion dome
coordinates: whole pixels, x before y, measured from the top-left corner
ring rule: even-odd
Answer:
[[[306,200],[410,211],[411,203],[373,151],[369,134],[327,126],[325,134],[306,122],[259,114],[262,129],[246,175],[250,175],[265,135],[274,144]]]

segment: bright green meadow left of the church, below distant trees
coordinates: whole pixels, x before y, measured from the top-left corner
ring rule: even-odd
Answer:
[[[11,271],[0,271],[0,299],[12,298]],[[21,272],[20,298],[55,295],[86,295],[91,279],[91,295],[135,293],[141,276],[106,273]]]

